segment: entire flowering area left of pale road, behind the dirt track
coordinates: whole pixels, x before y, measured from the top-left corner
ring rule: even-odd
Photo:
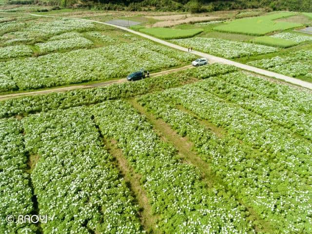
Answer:
[[[88,21],[13,22],[22,25],[12,25],[0,41],[1,92],[107,81],[141,68],[156,71],[196,58]]]

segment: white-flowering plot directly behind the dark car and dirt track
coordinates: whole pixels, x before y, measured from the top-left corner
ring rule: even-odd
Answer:
[[[55,41],[47,44],[50,43]],[[137,42],[121,43],[17,59],[0,63],[0,74],[13,79],[20,90],[27,90],[122,78],[142,67],[152,71],[181,64],[176,58],[183,57],[182,61],[194,59],[192,54],[166,47],[157,52],[156,48]]]

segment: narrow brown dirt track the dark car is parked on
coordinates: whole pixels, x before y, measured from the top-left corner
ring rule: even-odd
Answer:
[[[181,66],[181,67],[177,67],[177,68],[173,68],[173,69],[169,69],[169,70],[151,73],[150,76],[152,79],[153,77],[157,77],[157,76],[161,76],[161,75],[165,75],[165,74],[170,74],[170,73],[173,73],[176,71],[181,71],[181,70],[189,69],[192,67],[194,67],[194,66],[192,66],[192,65]],[[5,94],[5,95],[0,96],[0,101],[6,100],[6,99],[17,98],[17,97],[21,97],[21,96],[46,94],[46,93],[54,93],[54,92],[64,92],[64,91],[69,91],[69,90],[74,90],[74,89],[79,89],[79,88],[94,88],[94,87],[100,87],[100,86],[106,86],[106,85],[112,85],[112,84],[118,84],[118,83],[124,83],[124,82],[128,82],[126,78],[113,80],[113,81],[99,82],[99,83],[95,83],[95,84],[88,84],[88,85],[71,85],[71,86],[66,86],[66,87],[50,88],[50,89],[31,91],[31,92]]]

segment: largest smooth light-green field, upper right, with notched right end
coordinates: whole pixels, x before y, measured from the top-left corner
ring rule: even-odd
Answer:
[[[302,24],[295,22],[274,21],[276,19],[293,15],[295,15],[295,13],[281,12],[267,16],[244,18],[217,26],[214,29],[216,31],[221,32],[242,33],[248,35],[262,36],[270,32],[302,26]]]

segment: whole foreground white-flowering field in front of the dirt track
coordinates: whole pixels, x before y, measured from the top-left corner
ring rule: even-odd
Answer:
[[[0,232],[311,233],[311,113],[224,64],[1,101],[0,217],[54,218]]]

